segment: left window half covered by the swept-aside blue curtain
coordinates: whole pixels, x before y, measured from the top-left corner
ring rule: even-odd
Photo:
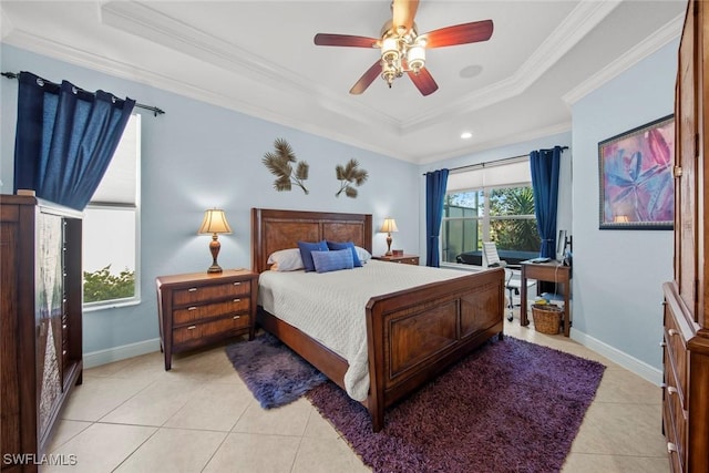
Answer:
[[[140,300],[141,115],[131,115],[84,210],[84,309]]]

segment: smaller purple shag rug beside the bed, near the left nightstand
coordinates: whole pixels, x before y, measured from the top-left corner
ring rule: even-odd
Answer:
[[[226,354],[264,409],[288,404],[327,381],[325,374],[269,333],[232,343]]]

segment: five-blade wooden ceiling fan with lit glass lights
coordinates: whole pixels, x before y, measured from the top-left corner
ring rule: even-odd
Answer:
[[[425,69],[425,50],[456,44],[487,41],[492,37],[492,20],[456,24],[419,34],[413,18],[419,0],[392,0],[392,18],[381,29],[381,38],[354,37],[350,34],[318,33],[316,45],[379,48],[381,58],[354,83],[351,94],[361,94],[378,75],[389,88],[394,79],[405,72],[421,94],[430,95],[439,86]]]

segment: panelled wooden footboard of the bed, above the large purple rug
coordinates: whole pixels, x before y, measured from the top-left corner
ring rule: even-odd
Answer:
[[[504,270],[373,297],[367,305],[374,432],[384,409],[412,393],[504,326]]]

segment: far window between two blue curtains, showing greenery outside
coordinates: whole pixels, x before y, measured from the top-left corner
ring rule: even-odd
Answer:
[[[538,256],[528,158],[451,173],[441,241],[444,263],[482,265],[483,241],[495,241],[508,263]]]

